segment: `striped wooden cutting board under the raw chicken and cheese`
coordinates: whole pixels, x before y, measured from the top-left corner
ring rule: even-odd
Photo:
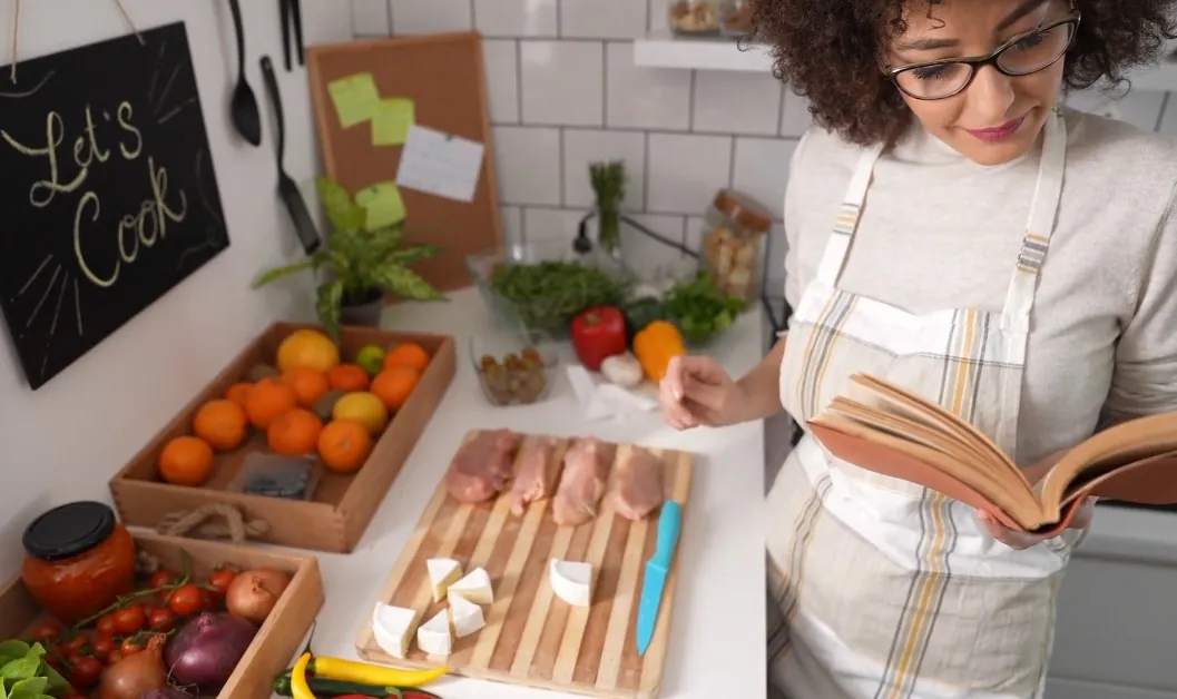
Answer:
[[[471,432],[466,439],[476,434]],[[534,437],[526,437],[530,439]],[[558,450],[560,458],[566,446],[564,441]],[[614,464],[630,448],[619,445]],[[663,459],[666,498],[683,505],[685,517],[692,455],[650,451]],[[463,505],[439,484],[381,588],[379,601],[418,610],[421,620],[431,618],[445,603],[433,604],[425,561],[451,557],[461,561],[465,571],[481,566],[490,573],[494,604],[484,608],[486,627],[455,639],[448,658],[425,655],[414,638],[408,659],[399,660],[377,645],[368,615],[355,641],[360,655],[401,667],[444,664],[465,677],[593,697],[657,697],[677,573],[672,571],[666,582],[653,640],[646,654],[639,657],[638,600],[645,564],[653,555],[658,537],[658,511],[631,522],[616,515],[609,500],[606,495],[593,521],[559,527],[552,520],[550,500],[533,502],[523,517],[514,517],[506,494],[483,505]],[[547,580],[552,558],[593,564],[598,578],[590,608],[572,607],[553,595]]]

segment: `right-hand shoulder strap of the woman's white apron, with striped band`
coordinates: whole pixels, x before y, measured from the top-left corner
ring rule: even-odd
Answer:
[[[1066,167],[1066,122],[1058,109],[1046,120],[1035,184],[1026,221],[1025,238],[1018,252],[1017,265],[1002,309],[1002,325],[1011,329],[1030,328],[1030,309],[1033,307],[1038,274],[1046,260],[1050,237],[1055,231],[1055,218],[1063,197],[1063,172]]]

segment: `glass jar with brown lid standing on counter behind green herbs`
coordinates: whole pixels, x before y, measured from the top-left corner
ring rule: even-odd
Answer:
[[[699,262],[729,298],[751,301],[759,293],[760,248],[772,214],[750,197],[720,189],[704,214]]]

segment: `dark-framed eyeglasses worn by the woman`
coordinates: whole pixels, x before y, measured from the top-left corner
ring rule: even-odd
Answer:
[[[1010,39],[989,55],[942,59],[898,68],[886,66],[885,74],[911,98],[943,100],[969,87],[982,66],[993,66],[1011,78],[1049,68],[1066,54],[1078,27],[1079,14],[1075,12],[1065,19]]]

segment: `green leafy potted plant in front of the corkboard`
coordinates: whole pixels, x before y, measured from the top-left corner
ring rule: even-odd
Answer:
[[[326,279],[318,287],[315,312],[332,337],[338,335],[340,325],[378,325],[385,294],[417,301],[443,298],[412,269],[414,264],[440,253],[440,247],[406,245],[403,221],[367,231],[367,209],[357,205],[347,189],[325,177],[318,178],[315,186],[333,228],[325,247],[305,260],[262,273],[253,288],[307,269],[325,271]]]

